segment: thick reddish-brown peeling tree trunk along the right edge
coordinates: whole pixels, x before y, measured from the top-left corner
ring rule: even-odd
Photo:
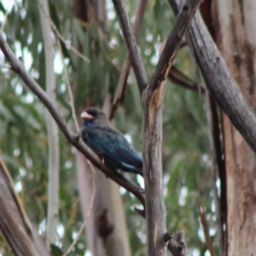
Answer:
[[[219,48],[242,93],[256,110],[256,2],[218,0],[215,29]],[[255,127],[256,129],[256,127]],[[228,255],[256,252],[256,155],[224,115],[227,169]]]

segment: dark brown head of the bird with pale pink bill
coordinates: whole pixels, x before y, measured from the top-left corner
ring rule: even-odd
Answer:
[[[106,114],[99,108],[85,108],[80,115],[84,120],[84,126],[105,125],[108,123]]]

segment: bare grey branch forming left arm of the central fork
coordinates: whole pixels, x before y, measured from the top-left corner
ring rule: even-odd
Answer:
[[[140,94],[142,95],[143,90],[148,85],[147,74],[145,71],[145,67],[143,66],[142,57],[139,53],[139,50],[137,49],[134,33],[131,30],[131,25],[126,14],[123,1],[113,0],[113,5],[119,17],[119,24],[123,32],[125,44],[127,45],[127,48],[129,50],[131,65],[137,79]]]

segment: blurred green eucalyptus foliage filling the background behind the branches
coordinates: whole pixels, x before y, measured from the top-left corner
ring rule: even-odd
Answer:
[[[108,13],[113,12],[107,1]],[[129,15],[134,19],[137,1],[126,1]],[[108,19],[108,28],[92,23],[83,26],[73,15],[68,1],[49,1],[50,15],[55,26],[74,47],[79,47],[90,60],[83,61],[61,44],[69,78],[73,86],[76,112],[85,105],[102,107],[106,96],[110,102],[125,61],[126,48],[119,32],[116,15]],[[0,3],[0,12],[5,13]],[[174,17],[165,1],[148,1],[148,9],[138,40],[148,79],[154,73],[159,47],[171,31]],[[42,32],[37,1],[17,1],[8,16],[5,35],[17,56],[27,63],[31,55],[30,73],[45,88],[45,63]],[[58,52],[57,46],[55,49]],[[3,66],[3,57],[1,57]],[[25,64],[26,66],[26,64]],[[195,78],[189,49],[181,49],[175,66]],[[73,127],[70,100],[63,72],[56,73],[57,100],[67,123]],[[40,230],[47,212],[47,135],[45,109],[20,79],[2,67],[0,74],[0,145],[3,159],[14,177],[26,211]],[[142,148],[142,108],[136,79],[131,72],[125,90],[125,100],[115,115],[116,127],[129,133],[138,150]],[[163,107],[163,167],[166,198],[167,228],[185,230],[191,255],[205,251],[205,241],[199,217],[199,205],[205,207],[207,221],[216,239],[215,216],[212,194],[211,160],[207,139],[207,120],[204,96],[177,88],[167,82]],[[52,247],[54,255],[61,255],[73,241],[83,222],[77,189],[75,157],[73,149],[61,135],[61,188],[59,243]],[[130,178],[135,178],[131,177]],[[124,192],[126,221],[129,226],[132,255],[144,255],[146,237],[145,222],[133,206],[137,200]],[[44,230],[43,230],[44,235]],[[2,239],[0,239],[2,244]],[[2,247],[2,245],[1,245]],[[82,255],[86,247],[84,235],[80,236],[74,254]],[[6,255],[8,252],[6,251]],[[198,254],[196,254],[198,255]],[[201,255],[204,255],[201,253]]]

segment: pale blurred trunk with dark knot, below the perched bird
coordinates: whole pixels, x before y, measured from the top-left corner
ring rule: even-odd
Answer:
[[[86,224],[87,243],[94,256],[130,256],[131,249],[125,224],[125,212],[119,195],[119,186],[96,170],[93,177],[88,160],[78,153],[79,195],[84,218],[88,214],[90,200],[95,200]],[[95,167],[94,167],[95,168]],[[95,179],[95,180],[93,180]],[[95,189],[93,186],[95,183]]]

